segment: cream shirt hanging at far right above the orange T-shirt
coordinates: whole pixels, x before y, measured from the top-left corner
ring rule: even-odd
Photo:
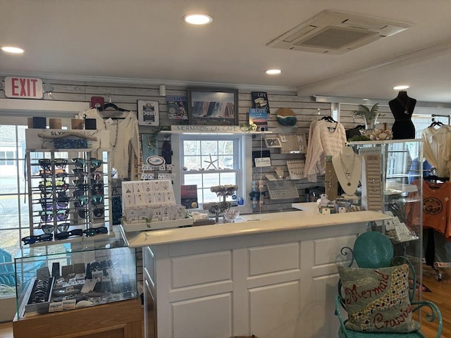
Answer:
[[[438,129],[427,127],[421,132],[424,146],[424,158],[437,170],[438,177],[450,177],[451,131],[450,126]]]

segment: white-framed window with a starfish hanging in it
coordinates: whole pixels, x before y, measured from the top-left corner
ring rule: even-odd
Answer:
[[[251,139],[244,134],[178,134],[173,135],[175,168],[181,168],[180,179],[174,184],[175,196],[180,196],[180,185],[196,184],[199,207],[222,201],[211,192],[215,185],[236,184],[237,192],[227,197],[233,206],[240,197],[246,200],[247,185],[251,185],[252,162],[249,160]],[[246,151],[247,149],[247,151]],[[174,156],[175,157],[175,156]],[[176,177],[177,179],[178,177]],[[247,206],[240,207],[246,212]],[[249,206],[249,211],[252,210]]]

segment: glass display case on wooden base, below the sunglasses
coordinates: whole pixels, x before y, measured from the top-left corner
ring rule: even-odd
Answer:
[[[116,237],[30,246],[15,258],[17,317],[137,297],[135,249]]]

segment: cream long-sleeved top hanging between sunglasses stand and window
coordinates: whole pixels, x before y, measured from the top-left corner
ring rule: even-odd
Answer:
[[[85,111],[84,114],[85,118],[97,120],[97,130],[109,130],[111,166],[117,170],[118,178],[130,177],[134,180],[137,175],[134,159],[135,156],[140,156],[140,131],[136,115],[128,112],[123,119],[104,119],[95,108]]]

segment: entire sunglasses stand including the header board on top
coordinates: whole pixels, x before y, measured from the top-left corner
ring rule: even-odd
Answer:
[[[93,227],[102,227],[98,236],[113,236],[111,149],[102,148],[109,132],[30,129],[25,137],[32,238],[24,243],[77,242],[89,239],[85,230]],[[42,234],[50,240],[39,240]]]

